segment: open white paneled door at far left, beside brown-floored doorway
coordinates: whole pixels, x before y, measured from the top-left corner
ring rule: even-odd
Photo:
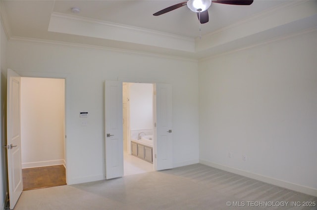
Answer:
[[[23,190],[21,164],[20,83],[20,76],[11,69],[8,69],[6,147],[9,181],[9,199],[11,210],[14,208]]]

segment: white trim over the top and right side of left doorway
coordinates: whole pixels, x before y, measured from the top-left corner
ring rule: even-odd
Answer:
[[[66,169],[66,184],[68,183],[68,163],[67,163],[67,118],[69,117],[69,105],[70,104],[70,98],[67,97],[67,93],[70,92],[70,76],[69,74],[52,74],[52,73],[46,73],[46,72],[17,72],[21,78],[22,77],[29,77],[29,78],[50,78],[50,79],[64,79],[65,80],[65,90],[64,90],[64,158],[65,158],[65,169]]]

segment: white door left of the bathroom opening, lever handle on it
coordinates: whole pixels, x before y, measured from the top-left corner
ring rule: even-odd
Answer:
[[[106,179],[123,176],[122,82],[105,82]]]

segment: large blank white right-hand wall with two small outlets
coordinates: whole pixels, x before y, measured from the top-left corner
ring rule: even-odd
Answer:
[[[202,163],[317,195],[316,30],[204,60],[199,84]]]

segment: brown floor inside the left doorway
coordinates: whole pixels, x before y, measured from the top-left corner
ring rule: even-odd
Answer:
[[[23,190],[66,185],[63,165],[22,169]]]

